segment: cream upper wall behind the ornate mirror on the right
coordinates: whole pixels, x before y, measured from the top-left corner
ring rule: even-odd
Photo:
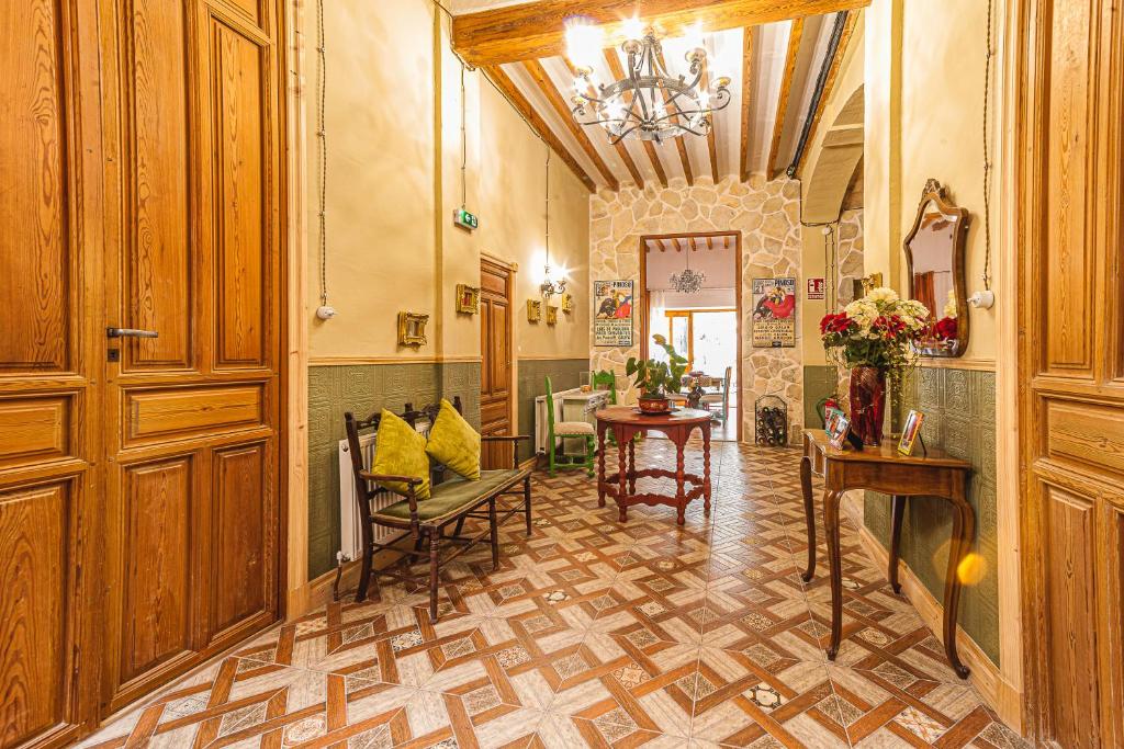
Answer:
[[[970,296],[984,287],[981,118],[987,3],[874,0],[867,19],[867,68],[871,72],[867,77],[864,175],[867,271],[890,273],[888,280],[899,291],[906,290],[901,241],[913,226],[925,181],[934,177],[954,203],[971,212]],[[879,33],[871,34],[876,25]],[[992,362],[996,311],[972,309],[969,314],[971,336],[961,362]]]

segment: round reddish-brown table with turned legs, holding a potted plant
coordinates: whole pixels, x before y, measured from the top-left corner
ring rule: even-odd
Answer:
[[[605,506],[605,495],[611,496],[620,509],[620,522],[628,519],[633,504],[667,504],[678,511],[680,526],[687,522],[685,512],[691,500],[703,497],[703,509],[710,512],[710,412],[679,409],[667,415],[644,415],[633,407],[615,405],[597,412],[597,501]],[[703,431],[703,476],[689,474],[683,467],[683,448],[696,427]],[[605,435],[611,429],[617,442],[617,473],[605,475]],[[636,469],[636,444],[633,438],[642,431],[662,431],[676,445],[676,469]],[[627,457],[626,457],[627,454]],[[676,495],[636,493],[637,478],[673,478]],[[687,485],[691,484],[688,488]]]

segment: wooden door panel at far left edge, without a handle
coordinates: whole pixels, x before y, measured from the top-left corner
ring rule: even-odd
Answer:
[[[103,331],[94,3],[0,3],[0,747],[94,720]]]

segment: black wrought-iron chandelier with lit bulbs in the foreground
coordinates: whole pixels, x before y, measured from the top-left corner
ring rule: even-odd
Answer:
[[[628,29],[632,29],[632,33]],[[700,35],[688,42],[687,75],[673,75],[663,60],[663,47],[638,21],[626,24],[629,37],[620,45],[628,58],[625,76],[596,85],[590,52],[599,47],[596,27],[573,26],[568,31],[568,56],[574,63],[573,118],[582,126],[601,126],[616,145],[625,138],[663,141],[690,133],[705,136],[711,115],[729,106],[729,77],[704,84],[706,49]],[[688,77],[690,80],[688,80]]]

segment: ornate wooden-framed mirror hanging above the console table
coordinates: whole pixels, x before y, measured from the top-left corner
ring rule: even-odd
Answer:
[[[940,182],[925,183],[905,240],[909,298],[930,311],[928,328],[917,342],[922,356],[957,357],[968,350],[964,244],[970,221],[967,209],[949,202]]]

